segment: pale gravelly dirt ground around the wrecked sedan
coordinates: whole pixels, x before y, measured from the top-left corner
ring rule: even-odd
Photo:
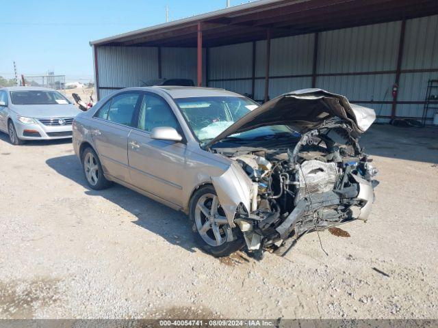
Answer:
[[[376,125],[367,223],[280,258],[200,251],[185,215],[86,187],[69,141],[0,135],[0,318],[438,318],[438,129]],[[338,236],[340,235],[340,236]]]

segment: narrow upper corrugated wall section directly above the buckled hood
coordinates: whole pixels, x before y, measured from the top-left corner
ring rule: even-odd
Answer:
[[[315,35],[312,33],[272,39],[270,76],[311,74],[314,38]]]

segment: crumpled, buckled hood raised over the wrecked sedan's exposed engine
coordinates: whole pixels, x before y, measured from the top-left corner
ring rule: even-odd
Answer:
[[[297,90],[278,96],[246,114],[207,146],[229,135],[261,126],[287,125],[298,133],[306,133],[334,118],[351,128],[352,137],[359,137],[376,120],[376,113],[374,109],[350,104],[339,94],[321,89]]]

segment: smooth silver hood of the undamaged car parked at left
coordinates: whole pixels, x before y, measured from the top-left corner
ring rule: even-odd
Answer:
[[[27,118],[74,118],[81,113],[75,105],[12,105],[12,111]]]

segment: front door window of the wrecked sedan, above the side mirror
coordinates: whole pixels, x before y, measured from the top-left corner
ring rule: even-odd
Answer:
[[[166,100],[154,94],[145,94],[140,107],[138,128],[151,132],[153,128],[161,126],[179,128],[177,118]]]

